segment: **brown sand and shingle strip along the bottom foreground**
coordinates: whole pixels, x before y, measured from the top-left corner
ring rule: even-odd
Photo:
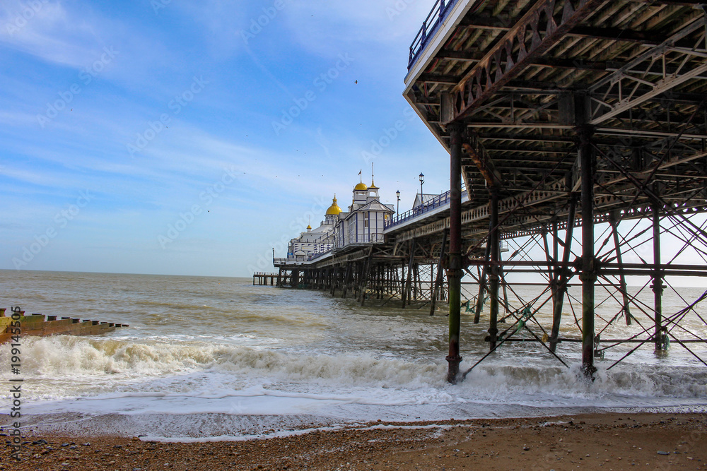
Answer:
[[[707,470],[707,416],[695,414],[374,422],[206,443],[24,432],[22,460],[6,446],[0,470]]]

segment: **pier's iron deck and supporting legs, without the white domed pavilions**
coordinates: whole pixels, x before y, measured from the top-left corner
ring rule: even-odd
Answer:
[[[403,94],[450,154],[449,191],[384,217],[375,239],[332,229],[330,247],[274,258],[278,284],[429,314],[444,301],[451,383],[514,341],[564,366],[558,343],[577,342],[589,377],[596,357],[626,345],[609,369],[671,344],[707,366],[687,325],[707,323],[706,30],[701,1],[438,0]],[[539,294],[522,299],[514,282],[529,277]],[[664,292],[681,279],[704,280],[700,294],[669,309]],[[489,325],[489,352],[466,371],[462,309]],[[631,338],[605,340],[619,322]],[[564,323],[576,335],[561,338]]]

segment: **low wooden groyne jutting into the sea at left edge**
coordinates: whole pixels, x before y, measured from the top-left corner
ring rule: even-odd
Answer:
[[[128,327],[128,324],[113,322],[91,321],[89,319],[79,319],[71,317],[58,318],[57,316],[45,316],[44,314],[30,314],[25,316],[25,311],[13,311],[6,315],[6,309],[0,308],[0,344],[11,340],[17,334],[17,324],[23,337],[35,335],[37,337],[47,337],[49,335],[98,335],[112,332],[118,327]]]

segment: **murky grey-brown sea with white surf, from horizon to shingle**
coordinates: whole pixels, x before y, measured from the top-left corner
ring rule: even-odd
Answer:
[[[532,290],[512,294],[510,304],[539,294]],[[666,315],[702,292],[666,292]],[[578,296],[578,288],[571,294]],[[639,298],[648,303],[651,296]],[[646,345],[607,370],[636,345],[611,349],[597,360],[593,382],[580,373],[578,343],[558,347],[568,367],[537,343],[503,345],[450,386],[447,318],[428,316],[426,308],[361,308],[324,292],[252,286],[250,278],[0,270],[0,306],[17,305],[29,313],[130,324],[105,335],[22,339],[23,421],[47,431],[244,439],[377,419],[707,411],[707,366],[677,343],[667,354]],[[566,306],[562,336],[579,337],[577,307]],[[617,309],[608,299],[597,312],[609,319]],[[707,301],[686,313],[682,338],[707,338],[699,316],[707,317]],[[547,309],[537,318],[549,328]],[[488,350],[486,321],[482,315],[474,325],[463,315],[462,370]],[[627,327],[619,320],[602,338],[641,330],[638,322]],[[707,360],[703,344],[689,347]],[[9,350],[0,346],[6,384],[16,377]],[[4,393],[0,413],[10,407]]]

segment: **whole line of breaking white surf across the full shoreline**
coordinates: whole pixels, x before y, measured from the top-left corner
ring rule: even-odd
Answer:
[[[0,364],[10,364],[9,349],[0,350]],[[260,383],[329,390],[351,388],[434,388],[469,402],[508,403],[529,400],[569,405],[612,402],[616,398],[690,398],[707,401],[707,369],[626,364],[597,371],[588,381],[578,364],[499,366],[474,369],[458,386],[445,383],[447,365],[374,354],[288,352],[200,341],[136,342],[69,336],[23,339],[23,375],[30,380],[112,381],[171,377],[206,372]],[[464,364],[462,363],[462,370]],[[1,376],[10,372],[3,366]],[[611,399],[611,400],[609,400]]]

